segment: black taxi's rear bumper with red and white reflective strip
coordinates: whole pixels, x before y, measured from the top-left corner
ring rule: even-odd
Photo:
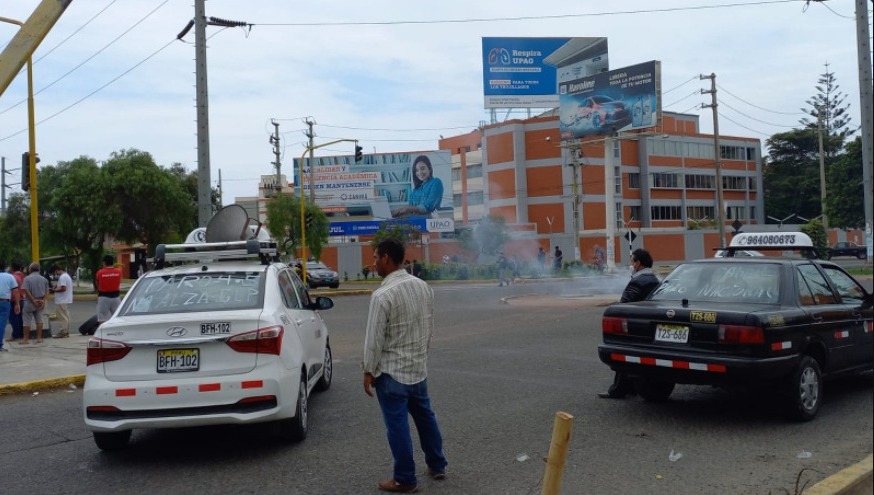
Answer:
[[[616,344],[598,346],[601,362],[634,378],[654,378],[700,385],[750,385],[787,377],[797,354],[755,358],[718,356],[676,350],[640,349]]]

